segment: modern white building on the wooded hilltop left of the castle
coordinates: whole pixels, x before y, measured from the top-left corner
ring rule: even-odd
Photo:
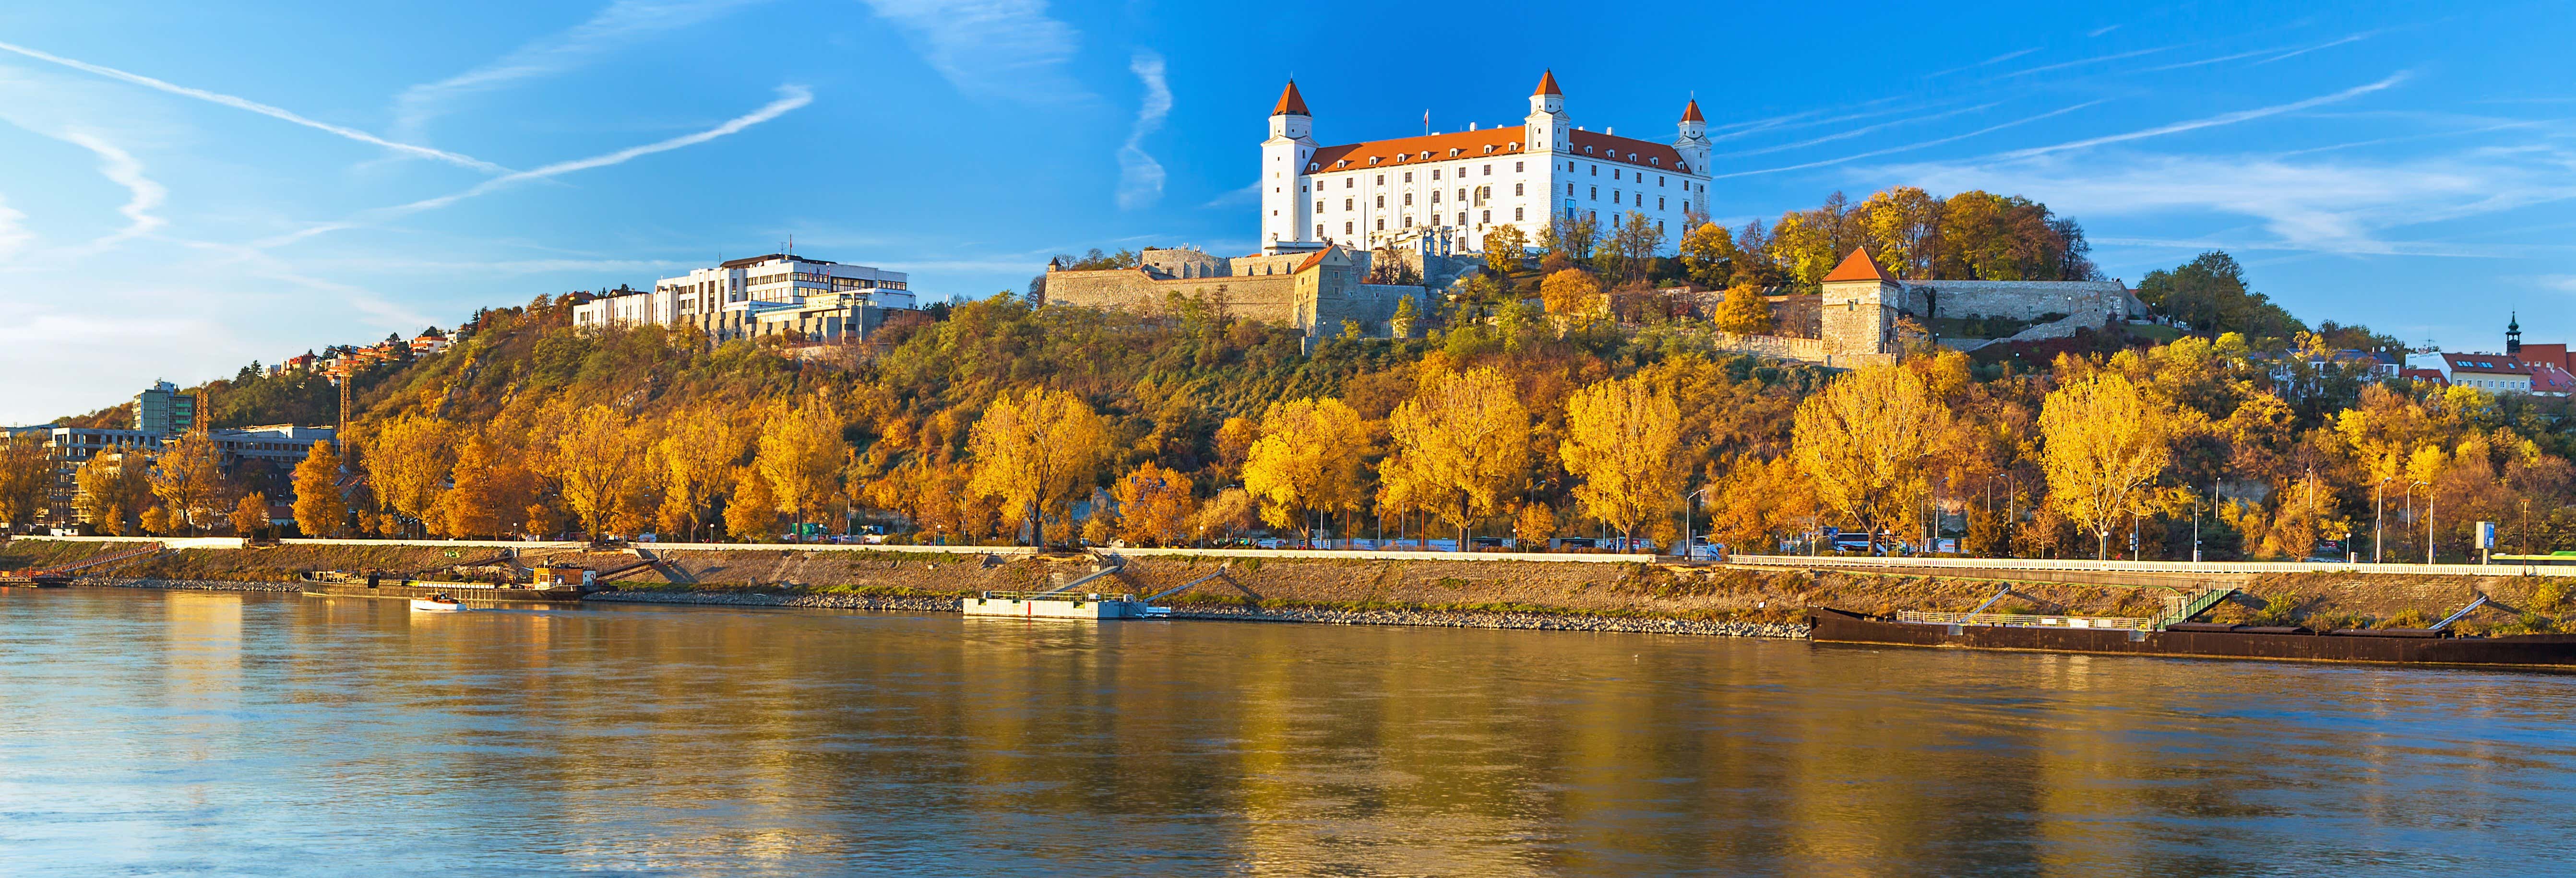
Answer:
[[[806,314],[817,306],[842,309],[842,317]],[[716,268],[696,268],[688,276],[654,281],[649,291],[618,288],[592,301],[572,306],[572,324],[670,324],[698,327],[716,337],[762,335],[765,324],[840,327],[858,332],[881,319],[866,319],[866,309],[912,309],[912,278],[902,270],[868,265],[842,265],[809,260],[788,252],[726,260]],[[806,319],[762,319],[770,312],[796,312]],[[811,335],[811,330],[806,330]]]

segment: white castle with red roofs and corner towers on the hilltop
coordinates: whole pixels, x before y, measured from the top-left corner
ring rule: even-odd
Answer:
[[[1538,77],[1520,124],[1324,147],[1291,80],[1262,142],[1262,247],[1432,242],[1484,250],[1504,224],[1535,242],[1551,216],[1607,229],[1643,214],[1674,252],[1708,216],[1708,118],[1682,106],[1672,142],[1589,131],[1566,116],[1556,72]]]

